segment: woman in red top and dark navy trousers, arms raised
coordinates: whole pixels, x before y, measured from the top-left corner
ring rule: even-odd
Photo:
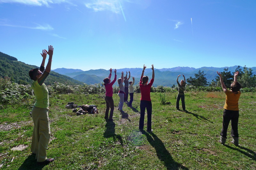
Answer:
[[[142,131],[144,127],[144,117],[145,117],[145,110],[147,109],[148,114],[148,122],[147,122],[147,131],[151,132],[153,131],[151,129],[151,115],[152,115],[152,103],[150,99],[150,89],[154,82],[155,78],[155,72],[154,72],[154,65],[152,64],[152,79],[148,83],[148,76],[143,76],[144,71],[147,66],[143,66],[142,74],[140,77],[140,123],[139,123],[139,129]]]

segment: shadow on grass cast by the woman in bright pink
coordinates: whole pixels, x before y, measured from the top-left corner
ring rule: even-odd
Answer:
[[[113,120],[108,121],[105,125],[106,130],[103,134],[104,138],[111,138],[113,137],[113,140],[116,142],[116,139],[119,140],[119,142],[121,143],[121,145],[123,146],[123,139],[120,135],[116,135],[115,133],[115,126],[116,124],[113,122]]]

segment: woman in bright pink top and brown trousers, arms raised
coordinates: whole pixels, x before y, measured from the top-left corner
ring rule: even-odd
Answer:
[[[108,120],[113,120],[113,113],[114,113],[114,101],[113,101],[113,84],[116,82],[116,69],[114,70],[115,72],[115,78],[113,81],[110,80],[111,78],[111,73],[112,73],[112,68],[109,69],[110,74],[108,77],[106,77],[104,81],[104,86],[106,88],[106,96],[105,96],[105,101],[106,101],[106,111],[105,111],[105,119]],[[110,108],[110,114],[108,118],[108,112]]]

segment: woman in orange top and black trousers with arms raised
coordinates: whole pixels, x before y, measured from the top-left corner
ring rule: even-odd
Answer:
[[[226,94],[226,101],[224,105],[225,110],[223,111],[222,129],[219,142],[221,144],[225,144],[227,139],[228,124],[231,120],[231,136],[233,137],[231,143],[233,143],[234,145],[238,145],[238,100],[241,95],[241,85],[237,82],[237,76],[239,72],[237,71],[234,75],[234,82],[231,84],[230,87],[231,90],[228,90],[226,88],[220,72],[217,71],[217,74],[220,76],[221,87]]]

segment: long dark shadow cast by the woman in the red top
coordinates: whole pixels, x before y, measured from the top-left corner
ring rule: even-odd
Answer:
[[[146,131],[141,131],[141,133],[146,135],[150,145],[156,149],[156,155],[160,161],[164,162],[166,169],[188,169],[172,159],[171,154],[167,151],[161,139],[159,139],[153,132],[148,133]]]

